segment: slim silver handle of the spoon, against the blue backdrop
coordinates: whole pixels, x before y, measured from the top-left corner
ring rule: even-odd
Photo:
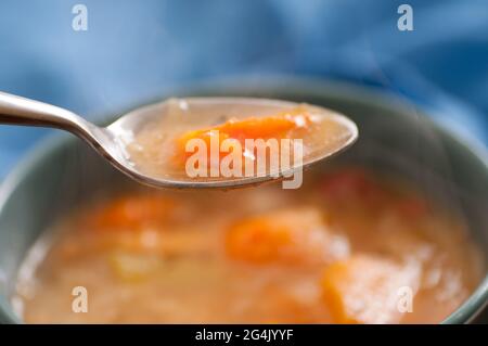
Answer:
[[[5,92],[0,92],[0,124],[53,127],[82,138],[95,127],[67,110]]]

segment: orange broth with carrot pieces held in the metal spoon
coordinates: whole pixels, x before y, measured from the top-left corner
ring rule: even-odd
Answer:
[[[292,177],[357,138],[332,111],[256,99],[175,99],[128,137],[127,155],[147,176],[232,184]],[[239,100],[239,99],[237,99]]]

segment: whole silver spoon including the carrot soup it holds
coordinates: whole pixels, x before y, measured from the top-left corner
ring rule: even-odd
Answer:
[[[0,124],[68,130],[120,171],[159,188],[293,179],[358,137],[356,125],[333,111],[248,98],[170,99],[100,128],[69,111],[0,93]]]

